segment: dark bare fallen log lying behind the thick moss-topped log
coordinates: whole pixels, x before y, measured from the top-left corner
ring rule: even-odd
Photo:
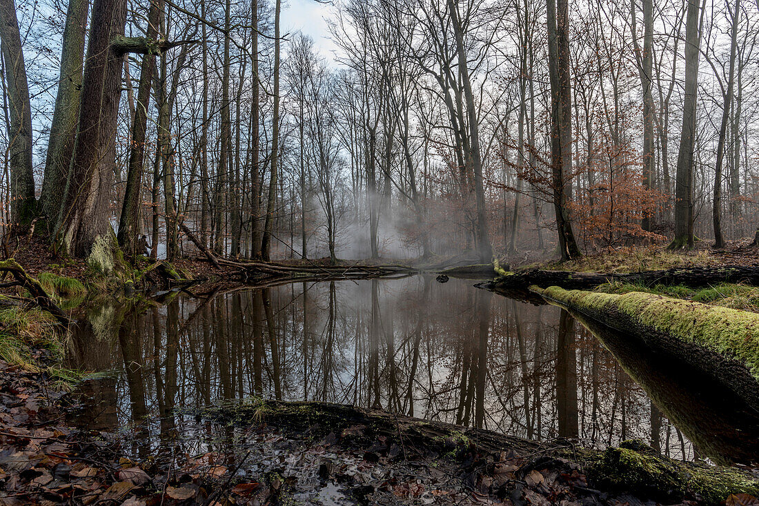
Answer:
[[[541,288],[558,286],[582,290],[596,287],[599,284],[613,282],[644,284],[647,286],[653,284],[685,284],[691,287],[702,287],[719,283],[745,283],[757,286],[759,285],[759,267],[688,267],[661,271],[632,272],[630,274],[530,269],[520,272],[509,272],[505,276],[478,286],[493,291],[524,289],[531,285]]]

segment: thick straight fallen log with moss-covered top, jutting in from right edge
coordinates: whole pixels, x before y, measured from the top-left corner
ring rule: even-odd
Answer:
[[[759,314],[656,294],[600,294],[559,287],[532,290],[556,305],[640,338],[707,371],[759,409]]]

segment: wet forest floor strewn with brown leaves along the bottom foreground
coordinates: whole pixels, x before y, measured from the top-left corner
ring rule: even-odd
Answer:
[[[51,360],[46,350],[33,356]],[[162,442],[153,435],[150,445],[134,433],[74,425],[77,412],[92,409],[77,402],[46,373],[0,361],[0,504],[759,504],[745,493],[757,490],[745,471],[739,478],[753,484],[735,485],[738,475],[729,474],[730,485],[717,495],[692,486],[673,493],[656,481],[663,476],[658,470],[642,478],[625,475],[631,480],[625,487],[619,479],[591,479],[582,460],[572,458],[581,448],[567,440],[541,444],[379,412],[364,419],[350,407],[321,408],[341,426],[314,422],[310,416],[319,406],[303,403],[283,403],[280,416],[269,416],[272,408],[266,407],[264,415],[244,416],[240,428],[218,416],[185,413],[181,430],[164,434]],[[386,422],[384,432],[376,429],[378,416]],[[647,458],[623,448],[609,451]],[[651,462],[652,469],[675,466],[667,469],[667,480],[684,465]],[[682,476],[691,476],[701,468],[682,469]],[[696,485],[714,484],[704,479]]]

